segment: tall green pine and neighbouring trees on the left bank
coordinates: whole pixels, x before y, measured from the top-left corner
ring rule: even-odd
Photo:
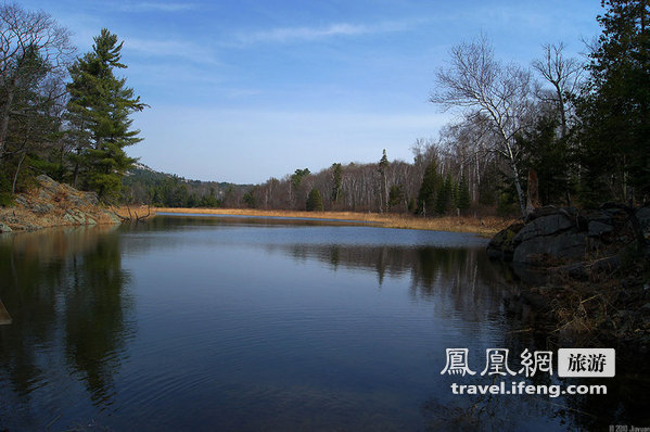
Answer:
[[[146,105],[116,72],[124,42],[102,29],[75,56],[69,31],[44,12],[0,4],[0,201],[39,174],[116,200]]]

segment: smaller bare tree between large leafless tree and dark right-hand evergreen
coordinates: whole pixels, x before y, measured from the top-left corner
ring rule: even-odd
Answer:
[[[533,62],[533,68],[551,85],[550,91],[538,91],[543,102],[550,103],[560,115],[560,136],[565,137],[568,117],[570,114],[569,101],[575,94],[582,80],[583,65],[577,59],[565,58],[564,45],[544,45],[544,55]]]

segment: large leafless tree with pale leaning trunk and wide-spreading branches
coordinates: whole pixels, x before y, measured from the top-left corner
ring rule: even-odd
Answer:
[[[438,88],[430,101],[445,110],[464,109],[464,115],[494,135],[490,150],[506,158],[517,189],[522,214],[526,200],[520,181],[520,152],[515,136],[526,125],[532,101],[528,71],[514,64],[501,65],[492,43],[480,37],[455,46],[450,64],[436,75]]]

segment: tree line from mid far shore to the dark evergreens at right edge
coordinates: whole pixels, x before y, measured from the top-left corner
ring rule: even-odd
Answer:
[[[297,169],[253,187],[250,206],[525,215],[544,204],[647,203],[650,3],[607,0],[585,60],[546,45],[530,67],[481,36],[455,46],[430,101],[457,119],[418,139],[413,161]],[[533,185],[534,182],[534,185]],[[531,190],[531,193],[526,193]],[[309,200],[310,198],[310,200]]]

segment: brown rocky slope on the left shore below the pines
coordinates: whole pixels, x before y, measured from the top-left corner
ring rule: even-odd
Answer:
[[[94,192],[78,191],[44,175],[36,179],[38,188],[17,194],[13,206],[0,208],[0,232],[122,221],[118,215],[102,207]]]

